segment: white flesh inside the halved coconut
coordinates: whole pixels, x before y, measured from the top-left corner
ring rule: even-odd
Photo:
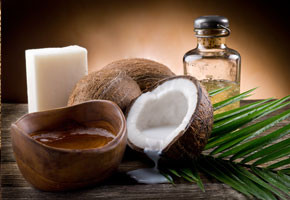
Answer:
[[[140,149],[162,151],[190,123],[197,87],[186,78],[169,79],[143,93],[127,115],[128,140]]]

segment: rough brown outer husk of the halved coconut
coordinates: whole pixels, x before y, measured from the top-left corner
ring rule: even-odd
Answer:
[[[186,78],[191,80],[197,87],[198,99],[195,112],[193,113],[187,127],[180,132],[165,149],[162,150],[162,157],[178,161],[192,160],[201,154],[207,144],[208,138],[210,137],[213,127],[213,107],[205,88],[192,76],[174,76],[163,79],[153,87],[149,88],[148,91],[154,90],[165,81],[176,78]],[[130,106],[128,106],[126,112],[127,115],[135,100],[133,100]],[[128,145],[136,151],[143,152],[143,149],[135,146],[130,142],[130,140],[128,140]]]

